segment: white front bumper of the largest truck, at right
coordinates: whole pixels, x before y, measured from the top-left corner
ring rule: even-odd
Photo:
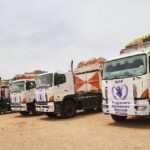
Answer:
[[[121,109],[124,106],[118,105],[119,111],[114,109],[112,111],[112,105],[109,104],[108,100],[103,100],[102,109],[105,114],[114,114],[118,116],[148,116],[150,115],[150,103],[148,99],[134,100],[133,105],[129,107],[133,108],[132,112],[126,111],[126,113],[121,113]]]

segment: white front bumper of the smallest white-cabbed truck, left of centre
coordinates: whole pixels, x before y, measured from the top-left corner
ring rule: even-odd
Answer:
[[[11,103],[12,111],[27,111],[27,105],[22,103]]]

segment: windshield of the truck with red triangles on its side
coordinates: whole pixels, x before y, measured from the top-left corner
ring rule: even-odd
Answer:
[[[36,86],[41,87],[41,86],[49,86],[51,87],[53,83],[53,74],[45,74],[38,76],[36,79]]]

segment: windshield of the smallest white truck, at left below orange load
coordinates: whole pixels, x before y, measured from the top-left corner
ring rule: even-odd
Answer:
[[[25,90],[25,82],[24,81],[19,81],[19,82],[14,82],[10,85],[10,92],[22,92]]]

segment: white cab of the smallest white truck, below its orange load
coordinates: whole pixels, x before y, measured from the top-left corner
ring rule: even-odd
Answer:
[[[35,109],[35,79],[20,79],[10,83],[11,110],[22,115],[32,113]]]

